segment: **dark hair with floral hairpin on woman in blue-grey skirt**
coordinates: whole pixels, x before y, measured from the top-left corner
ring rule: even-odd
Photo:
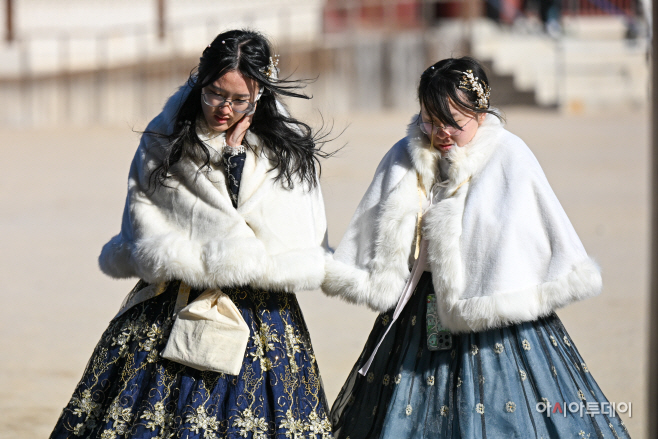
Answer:
[[[420,76],[418,101],[429,115],[442,124],[461,129],[452,117],[450,103],[467,113],[488,113],[500,118],[499,113],[489,105],[488,96],[482,99],[465,76],[472,73],[473,81],[480,85],[480,94],[489,90],[489,79],[480,63],[468,56],[447,58],[431,65]],[[466,85],[464,85],[466,81]],[[486,101],[486,102],[485,102]]]

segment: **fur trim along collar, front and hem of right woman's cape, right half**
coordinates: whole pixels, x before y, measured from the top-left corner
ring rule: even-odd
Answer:
[[[443,326],[454,333],[535,320],[601,291],[599,268],[588,258],[574,264],[571,271],[561,277],[539,285],[462,298],[466,273],[461,236],[465,202],[472,185],[469,178],[477,178],[495,151],[497,143],[490,139],[495,140],[500,135],[497,131],[502,133],[496,125],[488,124],[478,129],[469,147],[450,151],[448,159],[452,164],[445,198],[432,206],[424,217],[423,233],[429,241],[428,261],[437,294],[439,318]],[[487,142],[481,142],[483,138]]]

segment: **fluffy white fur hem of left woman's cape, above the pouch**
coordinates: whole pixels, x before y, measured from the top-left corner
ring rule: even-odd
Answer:
[[[320,287],[325,255],[324,249],[316,247],[269,256],[256,238],[201,245],[170,233],[131,246],[117,235],[103,247],[99,264],[108,276],[136,276],[149,283],[179,279],[196,288],[249,284],[294,292]]]

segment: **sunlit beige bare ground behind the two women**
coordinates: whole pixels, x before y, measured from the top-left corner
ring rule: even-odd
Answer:
[[[325,115],[331,117],[332,115]],[[355,114],[325,162],[323,190],[336,245],[409,114]],[[645,434],[648,287],[648,118],[509,109],[508,126],[544,167],[604,293],[559,312],[611,401]],[[338,131],[335,130],[335,131]],[[96,257],[119,230],[131,126],[0,129],[0,438],[47,437],[86,361],[134,281],[102,275]],[[334,146],[339,145],[338,143]],[[318,292],[298,295],[333,401],[375,315]]]

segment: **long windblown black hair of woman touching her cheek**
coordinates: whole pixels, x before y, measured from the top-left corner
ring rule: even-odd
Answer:
[[[287,188],[292,188],[295,180],[309,187],[317,184],[319,159],[331,155],[317,146],[323,143],[325,136],[314,135],[311,127],[282,112],[280,103],[277,105],[278,95],[310,98],[298,91],[305,86],[305,81],[277,79],[267,74],[270,57],[273,56],[267,38],[253,30],[223,32],[206,47],[199,65],[190,74],[188,85],[191,91],[178,109],[173,132],[159,134],[169,142],[163,161],[151,174],[156,185],[166,186],[167,179],[171,177],[171,167],[183,157],[198,161],[202,164],[201,169],[210,164],[210,152],[196,129],[203,114],[201,89],[234,70],[255,80],[263,90],[249,131],[257,135],[262,145],[273,153],[272,170],[277,172],[276,179]],[[248,148],[253,147],[246,137],[243,143]]]

